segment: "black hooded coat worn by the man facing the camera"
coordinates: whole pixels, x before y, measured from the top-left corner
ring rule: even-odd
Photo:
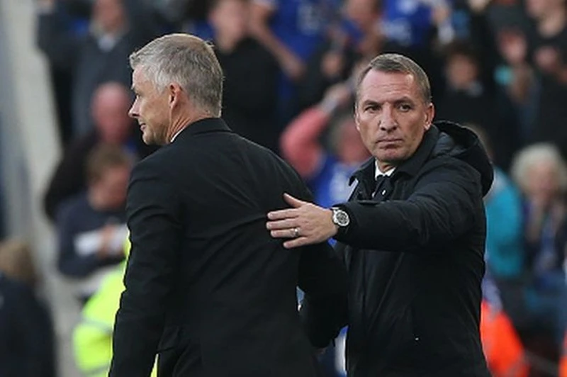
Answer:
[[[355,174],[340,205],[351,224],[335,237],[349,274],[349,377],[490,376],[479,322],[493,169],[480,142],[437,123],[371,198],[374,171],[371,160]]]

